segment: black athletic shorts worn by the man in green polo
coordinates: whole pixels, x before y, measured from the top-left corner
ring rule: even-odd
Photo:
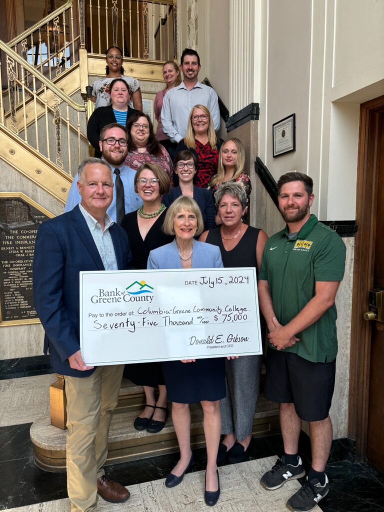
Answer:
[[[328,417],[335,387],[336,359],[311,362],[291,352],[268,347],[264,396],[278,403],[293,403],[304,421]]]

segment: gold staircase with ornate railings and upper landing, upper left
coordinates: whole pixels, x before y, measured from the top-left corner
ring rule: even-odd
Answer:
[[[87,158],[87,87],[120,46],[125,75],[162,81],[176,57],[176,0],[68,0],[8,43],[0,40],[0,158],[65,204]]]

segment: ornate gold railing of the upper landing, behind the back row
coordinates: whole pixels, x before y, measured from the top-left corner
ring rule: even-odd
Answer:
[[[176,0],[89,0],[87,50],[118,46],[125,57],[172,60],[177,56]]]

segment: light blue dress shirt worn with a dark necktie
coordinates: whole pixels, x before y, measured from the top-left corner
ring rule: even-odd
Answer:
[[[108,163],[108,162],[106,162]],[[119,166],[117,165],[110,165],[108,164],[112,172],[115,169],[120,169],[120,178],[124,185],[124,207],[125,207],[125,213],[129,214],[131,211],[135,211],[143,204],[142,200],[140,199],[140,196],[136,194],[135,192],[135,186],[134,186],[134,178],[136,171],[131,169],[131,167],[127,167],[124,164],[121,164]],[[113,182],[115,183],[116,180],[116,174],[113,174]],[[78,177],[77,174],[73,178],[73,182],[71,185],[71,188],[68,193],[67,203],[64,207],[64,211],[71,211],[77,204],[81,201],[81,196],[79,194],[79,191],[77,189],[77,181]],[[116,194],[114,190],[113,199],[110,207],[108,210],[106,210],[107,214],[112,218],[114,222],[116,222]]]

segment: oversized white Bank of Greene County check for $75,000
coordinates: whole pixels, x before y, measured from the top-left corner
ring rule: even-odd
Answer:
[[[87,365],[262,354],[254,268],[80,272]]]

